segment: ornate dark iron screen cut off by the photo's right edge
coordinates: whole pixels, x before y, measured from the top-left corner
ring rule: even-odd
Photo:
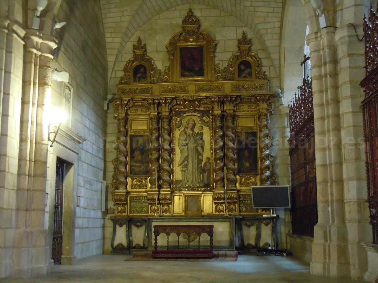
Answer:
[[[370,6],[369,19],[364,18],[366,76],[361,81],[365,88],[362,102],[365,167],[367,177],[367,202],[370,209],[370,223],[373,228],[373,243],[378,244],[378,16]]]

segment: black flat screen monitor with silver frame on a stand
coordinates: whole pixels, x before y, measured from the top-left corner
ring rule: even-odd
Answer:
[[[253,208],[290,208],[289,186],[252,186]]]

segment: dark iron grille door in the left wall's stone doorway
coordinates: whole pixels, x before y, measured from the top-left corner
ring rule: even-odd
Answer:
[[[54,231],[53,231],[53,260],[60,263],[63,243],[63,182],[65,177],[65,163],[56,161]]]

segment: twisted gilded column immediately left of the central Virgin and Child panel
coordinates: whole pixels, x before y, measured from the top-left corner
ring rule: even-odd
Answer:
[[[170,117],[164,116],[162,118],[162,131],[161,131],[161,189],[170,189],[172,184],[172,180],[170,178],[170,174],[172,169],[170,168],[170,163],[172,159],[170,158],[170,154],[172,149],[170,148]]]

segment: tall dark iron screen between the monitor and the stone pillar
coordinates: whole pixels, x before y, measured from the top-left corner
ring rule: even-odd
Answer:
[[[318,223],[316,197],[314,107],[309,78],[289,104],[291,224],[293,234],[313,236]]]

